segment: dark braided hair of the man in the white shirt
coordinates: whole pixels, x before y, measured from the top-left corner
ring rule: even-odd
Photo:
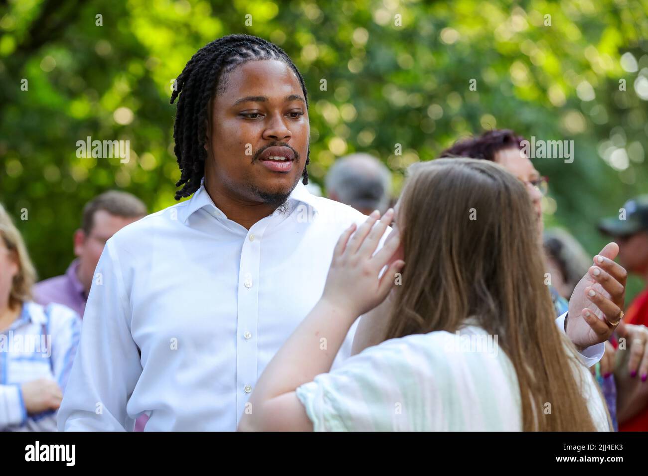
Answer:
[[[185,65],[176,80],[171,104],[178,99],[176,121],[173,126],[174,152],[180,168],[176,187],[176,200],[188,197],[200,188],[205,176],[205,137],[210,122],[209,105],[214,94],[224,91],[224,76],[237,66],[251,61],[279,60],[297,75],[308,108],[308,96],[304,78],[288,54],[270,41],[250,35],[228,35],[203,46]],[[310,162],[310,147],[306,165]],[[308,172],[304,167],[304,185],[308,184]]]

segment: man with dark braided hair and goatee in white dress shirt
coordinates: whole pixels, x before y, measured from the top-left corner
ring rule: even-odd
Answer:
[[[276,45],[212,41],[176,99],[176,199],[193,196],[108,240],[59,429],[132,430],[148,414],[146,430],[235,430],[321,297],[341,232],[365,221],[307,191],[307,89]]]

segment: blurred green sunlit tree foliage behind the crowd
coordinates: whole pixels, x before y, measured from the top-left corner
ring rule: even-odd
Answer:
[[[550,177],[546,226],[594,254],[605,243],[596,221],[648,192],[647,5],[0,1],[0,201],[41,278],[65,270],[80,211],[98,193],[127,190],[151,212],[172,205],[173,80],[205,43],[248,33],[283,47],[305,76],[315,183],[337,157],[363,151],[388,164],[398,191],[410,163],[483,129],[573,140],[573,163],[534,162]],[[129,140],[130,162],[76,157],[87,136]]]

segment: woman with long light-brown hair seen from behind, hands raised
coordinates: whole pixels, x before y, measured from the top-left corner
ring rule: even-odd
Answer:
[[[341,236],[321,300],[264,370],[240,429],[609,429],[554,323],[518,179],[487,161],[415,164],[396,211],[378,218]],[[383,301],[382,342],[329,372],[357,317]]]

